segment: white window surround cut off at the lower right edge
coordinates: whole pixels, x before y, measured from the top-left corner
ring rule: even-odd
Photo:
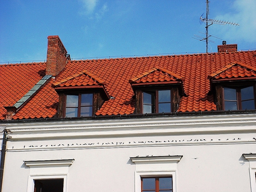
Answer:
[[[243,154],[249,161],[251,192],[256,191],[256,153]]]

